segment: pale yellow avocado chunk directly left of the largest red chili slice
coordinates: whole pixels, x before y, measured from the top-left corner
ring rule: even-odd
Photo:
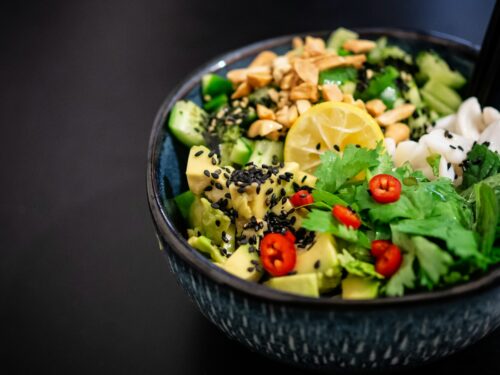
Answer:
[[[241,245],[229,257],[223,268],[243,280],[259,281],[262,277],[262,266],[257,251],[250,252],[250,245]]]

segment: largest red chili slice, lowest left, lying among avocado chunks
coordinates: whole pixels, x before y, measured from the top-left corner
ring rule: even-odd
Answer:
[[[264,269],[272,276],[284,276],[295,267],[295,245],[283,234],[266,234],[260,241],[260,259]]]

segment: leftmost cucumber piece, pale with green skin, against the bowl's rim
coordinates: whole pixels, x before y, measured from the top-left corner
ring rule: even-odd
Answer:
[[[203,133],[208,114],[191,101],[179,100],[170,112],[168,127],[180,142],[188,147],[204,145]]]

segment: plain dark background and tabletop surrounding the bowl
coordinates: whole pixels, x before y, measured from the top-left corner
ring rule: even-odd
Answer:
[[[493,3],[2,2],[0,371],[298,374],[227,340],[169,273],[145,193],[157,108],[198,65],[282,34],[394,26],[480,44]],[[498,374],[499,356],[497,331],[418,373]]]

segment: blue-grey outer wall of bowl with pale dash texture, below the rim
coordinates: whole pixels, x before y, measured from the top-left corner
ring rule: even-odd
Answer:
[[[357,311],[290,307],[217,284],[164,249],[179,284],[208,320],[251,350],[303,368],[415,366],[463,349],[500,326],[499,288],[432,305]]]

